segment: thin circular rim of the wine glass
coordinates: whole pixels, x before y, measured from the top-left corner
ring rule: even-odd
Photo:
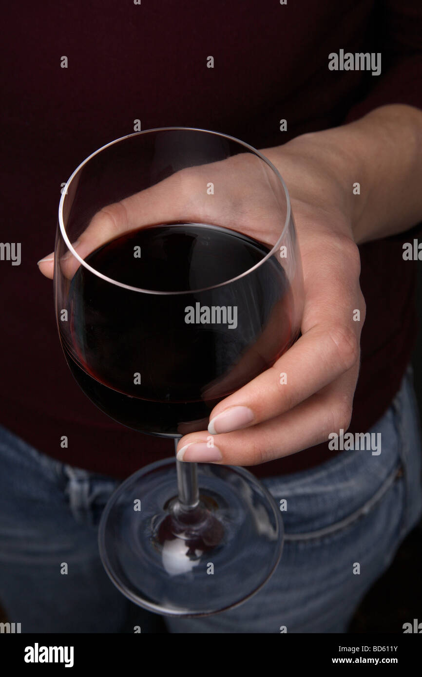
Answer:
[[[209,287],[205,287],[202,289],[188,289],[188,290],[181,290],[181,291],[160,291],[160,290],[153,290],[153,289],[145,289],[145,288],[140,288],[140,287],[134,287],[131,286],[130,284],[125,284],[124,282],[119,282],[119,280],[113,280],[112,278],[109,278],[108,276],[100,273],[100,271],[96,270],[93,268],[89,263],[85,261],[82,257],[79,256],[75,248],[73,248],[72,243],[70,242],[68,238],[68,234],[66,233],[66,227],[64,226],[64,221],[63,221],[63,206],[64,206],[64,200],[66,199],[66,195],[68,194],[68,187],[70,186],[70,183],[72,183],[72,180],[75,178],[75,176],[79,173],[79,171],[84,167],[84,165],[91,160],[91,158],[95,157],[98,155],[102,150],[105,150],[109,146],[113,146],[114,144],[118,144],[119,141],[125,141],[125,139],[130,139],[131,137],[135,136],[140,136],[142,134],[148,134],[152,132],[158,132],[158,131],[200,131],[203,133],[211,134],[214,136],[220,136],[223,137],[224,139],[229,139],[230,141],[235,141],[236,144],[240,144],[240,146],[243,146],[244,148],[247,148],[249,151],[253,152],[253,154],[257,155],[261,160],[266,162],[266,165],[272,169],[278,180],[280,181],[282,185],[282,189],[284,190],[284,196],[286,198],[286,205],[287,205],[287,210],[286,210],[286,219],[284,220],[284,225],[282,227],[282,231],[280,233],[280,236],[278,237],[278,240],[276,244],[268,251],[268,253],[261,259],[261,261],[258,261],[258,263],[255,263],[252,267],[248,268],[247,270],[243,271],[240,275],[230,278],[230,280],[224,280],[224,282],[219,282],[219,284],[212,284]],[[110,282],[110,284],[115,284],[119,287],[123,287],[124,289],[134,291],[134,292],[142,292],[144,294],[158,294],[158,295],[182,295],[182,294],[192,294],[194,292],[205,292],[209,291],[211,289],[215,289],[218,287],[225,286],[226,284],[231,284],[232,282],[236,282],[236,280],[240,280],[244,276],[249,275],[252,271],[258,269],[263,263],[268,261],[270,257],[276,253],[276,250],[278,250],[278,247],[280,246],[280,242],[284,239],[284,235],[287,232],[287,229],[289,227],[290,221],[291,221],[291,202],[290,202],[290,196],[289,192],[287,190],[287,186],[284,183],[284,180],[282,176],[280,175],[280,172],[278,169],[272,164],[271,160],[269,160],[265,155],[263,155],[259,150],[251,146],[250,144],[247,144],[246,141],[242,141],[241,139],[237,139],[234,136],[230,136],[229,134],[224,134],[222,132],[217,132],[217,131],[212,131],[211,129],[201,129],[200,127],[154,127],[152,129],[144,129],[142,131],[137,131],[133,132],[131,134],[127,134],[125,136],[121,136],[118,139],[114,139],[113,141],[109,141],[108,144],[105,144],[104,146],[101,146],[101,148],[98,148],[95,150],[93,153],[91,153],[89,156],[83,160],[78,167],[73,171],[72,175],[70,175],[68,181],[66,182],[66,185],[64,185],[63,191],[62,191],[62,196],[60,198],[60,204],[59,204],[59,213],[58,213],[58,221],[59,221],[59,227],[60,227],[60,232],[62,234],[62,238],[64,242],[66,243],[66,246],[70,253],[83,265],[86,269],[91,271],[94,275],[96,275],[98,278],[101,278],[105,282]],[[233,231],[236,232],[236,231]]]

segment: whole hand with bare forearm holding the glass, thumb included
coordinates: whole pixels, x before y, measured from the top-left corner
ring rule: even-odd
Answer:
[[[293,454],[328,439],[329,433],[347,429],[365,315],[355,242],[404,231],[422,219],[421,141],[421,112],[394,104],[351,125],[302,135],[262,151],[280,171],[291,196],[305,283],[302,335],[272,368],[215,406],[208,431],[182,437],[178,445],[181,460],[253,465]],[[242,156],[230,161],[242,162]],[[221,201],[225,218],[230,215],[238,230],[251,237],[257,235],[254,224],[265,223],[268,242],[274,242],[273,229],[278,227],[274,193],[266,191],[253,163],[243,168],[244,191],[238,190],[226,167],[221,180],[228,181],[227,194],[234,199]],[[216,173],[219,169],[215,167]],[[178,179],[162,181],[159,190],[164,191],[164,202],[157,202],[155,193],[154,199],[149,195],[145,200],[145,191],[129,209],[119,204],[111,206],[111,211],[103,210],[100,221],[94,217],[88,237],[77,247],[81,256],[101,244],[98,237],[106,241],[104,232],[113,238],[120,230],[177,219],[174,210],[184,213],[186,200],[192,196],[192,221],[207,222],[205,203],[198,202],[199,192],[196,195],[192,190],[190,178],[189,171],[182,171]],[[181,180],[176,191],[173,186],[177,184],[171,180]],[[358,194],[353,190],[356,182]],[[257,201],[249,200],[257,194],[257,185],[258,210]],[[202,181],[199,190],[203,192]],[[164,205],[161,213],[157,205]],[[166,214],[169,206],[171,215]],[[265,240],[261,235],[260,230],[258,238]],[[48,277],[53,276],[53,265],[53,255],[39,263]],[[67,265],[70,276],[79,263],[70,257]],[[280,383],[281,373],[287,374],[287,383]]]

